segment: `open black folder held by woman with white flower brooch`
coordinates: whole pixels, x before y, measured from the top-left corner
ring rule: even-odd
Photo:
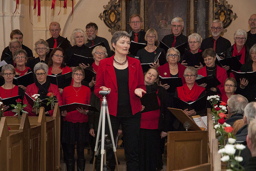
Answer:
[[[161,84],[168,84],[170,88],[167,89],[168,93],[174,93],[177,87],[182,86],[182,79],[179,77],[161,77],[159,76]]]

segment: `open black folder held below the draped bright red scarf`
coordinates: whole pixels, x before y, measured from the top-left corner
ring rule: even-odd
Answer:
[[[187,103],[183,100],[180,100],[179,98],[177,98],[175,96],[174,96],[174,99],[173,99],[173,106],[174,106],[173,108],[176,108],[176,109],[182,109],[182,110],[195,109],[195,111],[200,111],[203,108],[205,108],[205,106],[206,106],[206,105],[203,105],[203,104],[206,104],[206,96],[203,96],[200,99],[198,99],[196,101],[193,101],[193,102],[190,102],[190,103]]]

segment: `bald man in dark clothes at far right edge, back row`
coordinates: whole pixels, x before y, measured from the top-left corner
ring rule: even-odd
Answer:
[[[248,20],[248,24],[251,30],[247,32],[247,40],[245,44],[251,48],[256,43],[256,14],[251,15]]]

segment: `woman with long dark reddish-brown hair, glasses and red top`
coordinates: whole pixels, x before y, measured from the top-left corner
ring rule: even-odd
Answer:
[[[71,68],[65,65],[64,63],[64,51],[61,47],[56,47],[50,54],[49,62],[48,62],[48,75],[62,75],[68,72],[72,72]],[[73,80],[71,82],[73,85]],[[59,92],[62,95],[63,89],[59,88]]]

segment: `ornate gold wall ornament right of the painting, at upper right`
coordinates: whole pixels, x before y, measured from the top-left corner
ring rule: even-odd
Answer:
[[[233,5],[229,5],[226,0],[219,0],[214,4],[214,18],[222,21],[223,32],[227,32],[225,28],[230,26],[233,19],[235,20],[238,17],[236,13],[233,14],[232,8]]]

